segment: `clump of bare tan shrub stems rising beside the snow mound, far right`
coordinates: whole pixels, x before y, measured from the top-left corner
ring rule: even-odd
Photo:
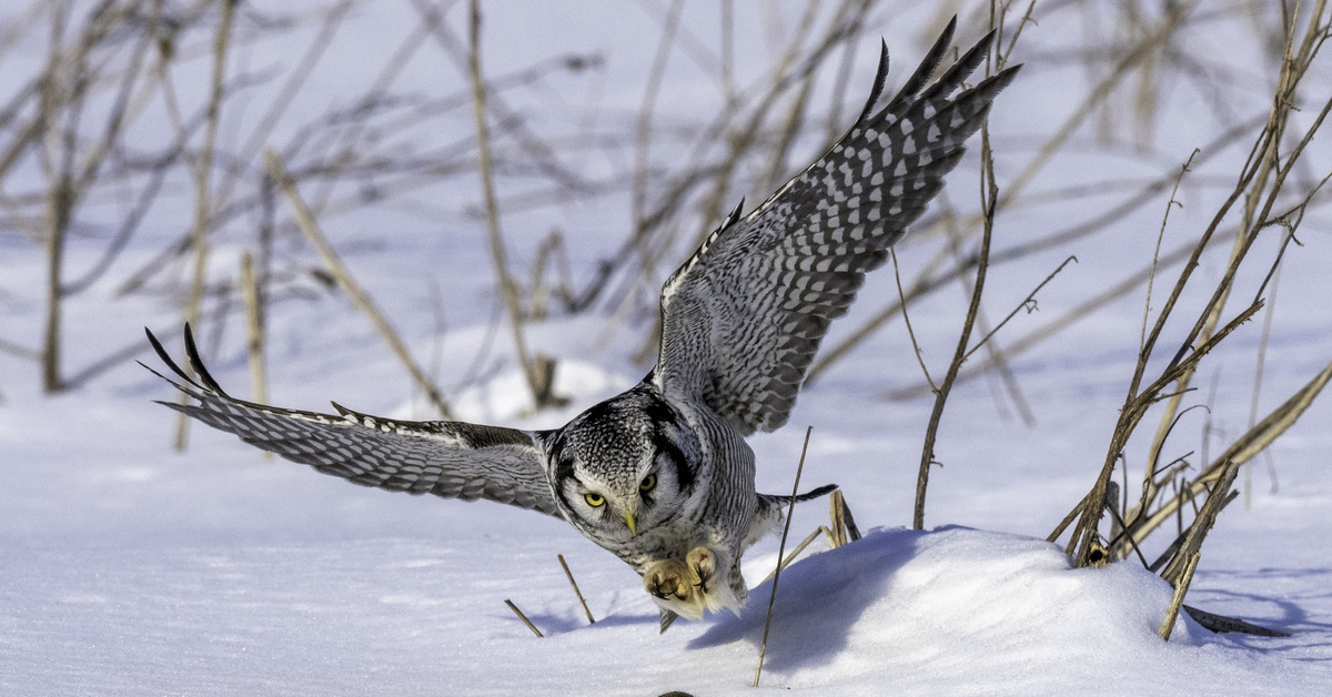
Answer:
[[[1067,549],[1075,564],[1080,566],[1103,562],[1104,560],[1099,558],[1102,556],[1118,560],[1138,553],[1139,558],[1143,558],[1139,548],[1146,537],[1173,516],[1180,516],[1187,502],[1205,494],[1203,505],[1192,510],[1192,522],[1176,537],[1166,554],[1155,564],[1148,565],[1154,570],[1163,566],[1162,576],[1176,588],[1175,608],[1183,600],[1193,570],[1197,568],[1199,554],[1208,530],[1221,508],[1235,496],[1232,484],[1239,468],[1293,424],[1332,377],[1332,364],[1329,364],[1277,409],[1252,425],[1247,433],[1235,440],[1207,466],[1189,468],[1187,461],[1162,462],[1163,446],[1177,422],[1180,402],[1191,389],[1191,381],[1200,362],[1263,307],[1264,295],[1268,292],[1268,280],[1276,273],[1288,244],[1295,239],[1309,203],[1328,177],[1332,177],[1329,173],[1320,180],[1308,183],[1292,177],[1292,172],[1301,167],[1305,147],[1323,125],[1328,112],[1332,111],[1332,99],[1324,97],[1307,128],[1288,131],[1292,113],[1308,104],[1304,89],[1301,89],[1303,80],[1308,75],[1319,48],[1332,36],[1332,17],[1327,13],[1325,3],[1315,3],[1308,12],[1308,19],[1296,15],[1285,17],[1288,24],[1283,59],[1267,123],[1259,131],[1248,160],[1236,177],[1233,189],[1199,236],[1189,259],[1155,317],[1150,312],[1151,297],[1148,296],[1148,312],[1143,317],[1143,337],[1138,362],[1130,380],[1128,394],[1119,413],[1119,421],[1111,436],[1100,476],[1091,492],[1051,534],[1051,540],[1058,538],[1064,528],[1074,522]],[[1185,164],[1180,176],[1183,177],[1187,171],[1188,165]],[[1173,203],[1172,199],[1171,204]],[[1241,207],[1239,221],[1228,223],[1233,217],[1232,212],[1236,207]],[[1168,209],[1169,207],[1167,207],[1167,216]],[[1208,244],[1229,225],[1235,225],[1235,233],[1225,271],[1215,287],[1204,293],[1205,300],[1200,307],[1191,313],[1185,309],[1187,303],[1183,299],[1185,289],[1196,285],[1193,284],[1193,271]],[[1163,221],[1163,232],[1164,228],[1166,223]],[[1263,261],[1251,260],[1253,244],[1263,233],[1281,235],[1283,243],[1276,248],[1272,259],[1265,261],[1268,272],[1261,276],[1252,300],[1227,319],[1227,300],[1236,289],[1236,276],[1241,264],[1245,261],[1263,264]],[[1179,341],[1177,348],[1167,354],[1171,357],[1162,366],[1156,352],[1159,343],[1166,336],[1167,324],[1172,320],[1191,323],[1191,327]],[[1111,492],[1111,477],[1114,470],[1122,466],[1138,426],[1148,413],[1158,408],[1160,408],[1160,425],[1151,441],[1139,501],[1120,513],[1116,510],[1115,497],[1107,496]],[[1168,489],[1173,489],[1173,492],[1168,492]],[[1115,533],[1110,540],[1100,536],[1100,522],[1107,510],[1116,517]],[[1147,565],[1146,558],[1143,562]],[[1162,626],[1163,637],[1168,638],[1172,625],[1173,617],[1171,616]]]

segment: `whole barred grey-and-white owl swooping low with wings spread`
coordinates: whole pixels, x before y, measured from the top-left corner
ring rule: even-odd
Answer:
[[[163,402],[245,442],[356,484],[488,498],[561,516],[643,576],[675,614],[735,609],[745,549],[789,498],[754,490],[745,436],[786,424],[829,324],[924,211],[1016,67],[971,88],[982,39],[932,83],[943,32],[886,104],[884,47],[868,103],[823,157],[747,215],[737,208],[662,288],[657,366],[554,430],[396,421],[228,396],[198,358],[173,382],[198,404]],[[825,493],[826,489],[810,496]]]

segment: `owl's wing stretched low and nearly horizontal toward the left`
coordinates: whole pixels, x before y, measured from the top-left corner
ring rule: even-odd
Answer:
[[[163,362],[181,380],[152,370],[198,404],[161,401],[256,448],[364,486],[445,498],[489,498],[559,516],[537,433],[461,421],[394,421],[333,404],[338,414],[282,409],[237,400],[204,368],[189,327],[190,378],[148,332]]]

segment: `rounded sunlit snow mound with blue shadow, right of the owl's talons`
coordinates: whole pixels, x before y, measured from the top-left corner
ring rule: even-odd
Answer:
[[[757,588],[739,617],[722,618],[687,648],[749,642],[757,656],[770,593],[770,582]],[[1187,616],[1162,641],[1169,597],[1169,585],[1136,564],[1074,569],[1043,540],[879,529],[783,572],[763,685],[1067,694],[1111,685],[1118,693],[1184,693],[1211,682],[1268,693],[1325,684],[1325,669],[1273,670],[1259,650]],[[1289,682],[1273,682],[1277,673]]]

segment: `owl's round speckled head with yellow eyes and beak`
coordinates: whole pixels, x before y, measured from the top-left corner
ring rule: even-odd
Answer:
[[[694,490],[697,437],[647,389],[587,409],[551,432],[545,446],[561,512],[603,546],[655,529]]]

